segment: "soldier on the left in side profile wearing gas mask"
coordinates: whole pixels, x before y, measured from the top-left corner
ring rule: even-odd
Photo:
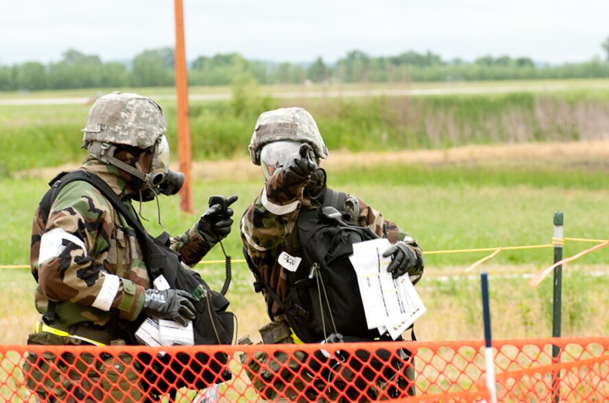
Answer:
[[[132,199],[178,192],[184,176],[169,170],[167,120],[152,99],[120,92],[101,96],[83,131],[83,148],[90,155],[78,169],[103,179],[134,214]],[[232,209],[219,213],[214,205],[185,233],[171,238],[171,248],[184,263],[195,265],[228,235],[231,216]],[[30,264],[38,282],[36,309],[44,314],[36,333],[29,335],[30,344],[135,343],[126,330],[142,317],[182,324],[195,317],[191,294],[152,288],[134,229],[85,181],[62,187],[46,220],[40,207],[36,210]],[[42,400],[66,398],[64,389],[53,391],[47,382],[46,388],[34,388]],[[80,401],[78,388],[86,391],[86,380],[78,382],[69,401]],[[137,393],[126,393],[124,401],[138,401]],[[115,400],[121,396],[108,401]]]

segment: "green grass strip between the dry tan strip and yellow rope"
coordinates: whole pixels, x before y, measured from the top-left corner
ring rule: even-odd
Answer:
[[[604,189],[606,168],[526,166],[350,166],[329,173],[329,185],[355,194],[411,235],[425,250],[453,250],[551,244],[553,213],[564,211],[565,236],[606,239],[609,216],[608,190]],[[0,263],[27,264],[29,231],[38,200],[50,178],[2,179],[0,205],[10,211],[0,222]],[[235,216],[256,196],[261,183],[239,181],[195,181],[193,205],[197,213],[206,209],[211,194],[238,194]],[[161,219],[172,234],[185,231],[196,220],[179,210],[179,197],[160,199]],[[156,224],[156,204],[145,203],[143,214],[150,220],[151,233],[163,229]],[[225,242],[232,255],[239,256],[237,225]],[[568,242],[566,255],[591,245]],[[213,259],[221,259],[219,250]],[[608,252],[599,250],[582,257],[588,264],[606,263]],[[430,265],[467,265],[488,255],[430,255]],[[551,263],[551,250],[501,252],[494,261],[505,264]]]

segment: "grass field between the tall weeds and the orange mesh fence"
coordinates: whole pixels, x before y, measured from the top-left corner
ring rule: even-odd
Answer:
[[[607,145],[589,144],[595,152],[577,159],[581,164],[573,164],[575,156],[567,150],[573,153],[582,148],[582,144],[552,146],[558,155],[563,151],[564,159],[547,161],[543,152],[549,147],[547,144],[529,144],[516,150],[500,146],[453,150],[452,156],[449,153],[444,157],[444,163],[433,162],[435,157],[425,152],[405,153],[404,164],[395,164],[392,155],[375,155],[379,159],[384,157],[388,163],[374,164],[374,168],[366,164],[353,165],[352,161],[358,161],[362,155],[337,153],[332,155],[335,161],[329,159],[326,168],[331,172],[331,186],[348,190],[383,211],[387,218],[419,239],[429,252],[551,244],[556,210],[564,211],[565,236],[606,239],[609,216],[603,212],[609,194],[599,183],[606,174],[603,150]],[[534,154],[536,148],[540,154],[538,159],[527,157],[524,161],[513,161],[510,157],[514,152],[521,156]],[[494,156],[499,151],[504,155],[501,160]],[[474,158],[478,161],[457,164],[463,153],[478,153]],[[411,165],[409,159],[418,163]],[[425,160],[428,162],[423,163]],[[213,167],[215,173],[211,172]],[[1,241],[7,246],[0,251],[1,263],[27,264],[32,211],[52,171],[35,171],[34,177],[0,181],[5,189],[0,203],[3,211],[11,211],[0,223]],[[236,171],[240,174],[235,174]],[[193,172],[196,177],[193,198],[198,212],[204,211],[211,194],[237,193],[240,199],[235,203],[235,211],[239,216],[261,186],[258,168],[250,166],[245,159],[195,164]],[[586,181],[582,177],[589,178]],[[161,218],[169,233],[184,231],[196,220],[196,215],[181,213],[178,203],[178,197],[161,200]],[[143,205],[143,215],[151,221],[147,223],[151,233],[162,231],[155,222],[154,203]],[[235,224],[224,246],[234,259],[242,259],[237,235]],[[565,256],[589,246],[567,242]],[[475,272],[464,272],[468,265],[489,253],[427,255],[426,276],[418,289],[429,311],[417,325],[420,339],[482,337],[476,276],[481,270],[490,272],[495,337],[551,334],[551,280],[538,289],[530,289],[525,277],[551,265],[551,248],[501,252]],[[564,335],[599,335],[609,331],[609,316],[603,309],[609,303],[605,291],[609,286],[608,256],[608,251],[599,250],[565,267]],[[217,259],[222,259],[219,248],[206,258]],[[222,286],[221,264],[204,264],[200,270],[212,285]],[[597,272],[604,275],[598,276]],[[229,296],[232,309],[241,318],[239,335],[257,337],[257,328],[265,323],[262,298],[253,293],[252,278],[245,264],[235,263],[233,273]],[[34,280],[26,269],[5,269],[0,276],[3,276],[0,292],[10,296],[11,301],[0,307],[0,324],[5,324],[0,326],[0,340],[20,343],[37,316],[31,297]]]

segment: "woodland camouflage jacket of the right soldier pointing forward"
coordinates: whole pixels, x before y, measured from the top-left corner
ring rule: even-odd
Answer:
[[[254,270],[281,300],[289,293],[290,284],[288,271],[278,263],[278,257],[283,251],[291,253],[299,248],[296,222],[301,208],[313,208],[311,200],[303,196],[303,187],[284,186],[283,172],[278,171],[267,181],[261,194],[246,209],[239,223],[244,251],[255,266]],[[416,240],[408,237],[407,233],[401,231],[393,222],[385,220],[379,211],[351,195],[347,195],[344,211],[350,212],[352,222],[360,226],[370,226],[379,237],[387,237],[392,243],[406,242],[422,262],[423,252]],[[421,264],[416,273],[411,274],[413,283],[420,279],[422,273]],[[265,289],[262,292],[269,304],[270,296]],[[271,311],[275,320],[285,321],[278,304],[274,303]]]

